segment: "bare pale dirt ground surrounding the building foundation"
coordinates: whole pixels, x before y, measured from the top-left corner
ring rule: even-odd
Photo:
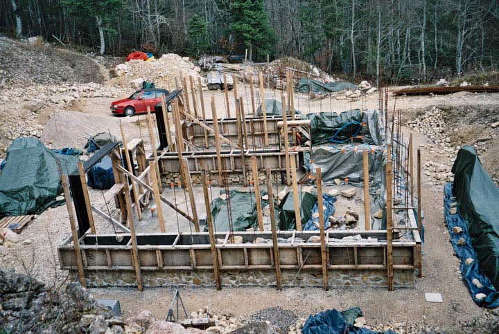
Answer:
[[[240,86],[240,95],[249,96],[249,88]],[[247,93],[247,95],[246,95]],[[209,99],[216,100],[216,107],[225,113],[225,100],[222,92],[204,92],[207,117],[211,117]],[[265,98],[280,100],[279,91],[265,92]],[[128,138],[141,136],[148,145],[148,133],[145,116],[117,118],[111,115],[111,98],[86,98],[78,100],[73,106],[49,113],[38,118],[46,127],[42,140],[53,147],[73,146],[82,149],[85,137],[97,131],[110,131],[121,138],[119,123],[122,122]],[[251,106],[245,99],[247,113]],[[231,110],[234,110],[234,98],[231,93]],[[389,109],[401,109],[406,120],[415,118],[422,109],[431,106],[448,108],[482,106],[493,107],[499,103],[499,94],[462,94],[422,97],[389,97]],[[296,109],[304,113],[316,111],[344,111],[360,106],[374,109],[378,107],[378,95],[374,93],[367,99],[357,102],[338,101],[334,98],[308,100],[307,95],[296,98]],[[141,127],[139,127],[139,119]],[[409,129],[405,129],[406,132]],[[414,149],[419,145],[428,145],[430,140],[421,133],[414,133]],[[498,145],[499,146],[499,145]],[[147,146],[148,148],[149,145]],[[422,160],[438,160],[437,153],[422,150]],[[261,308],[281,306],[295,311],[301,317],[321,310],[351,306],[360,306],[365,313],[367,324],[382,324],[389,320],[411,323],[426,323],[436,331],[459,333],[459,322],[471,321],[480,317],[485,310],[473,303],[464,283],[457,278],[459,262],[453,256],[453,248],[444,225],[443,188],[430,185],[428,177],[423,175],[423,210],[425,212],[425,244],[423,246],[423,278],[416,279],[416,288],[399,289],[388,292],[385,289],[345,288],[327,292],[319,288],[286,288],[277,291],[274,288],[180,288],[186,308],[191,311],[208,306],[220,313],[244,316]],[[91,201],[102,207],[102,194],[91,192]],[[105,221],[98,221],[97,228],[109,231]],[[2,268],[15,268],[19,272],[28,272],[47,284],[62,284],[67,279],[67,272],[58,269],[57,245],[69,235],[69,223],[66,207],[57,207],[40,214],[21,234],[21,240],[29,241],[26,245],[14,245],[8,255],[0,257]],[[119,299],[123,315],[128,317],[140,310],[148,309],[157,318],[166,318],[168,306],[173,297],[173,288],[146,288],[138,292],[133,288],[92,288],[91,293],[98,298]],[[425,293],[441,293],[444,302],[427,303]]]

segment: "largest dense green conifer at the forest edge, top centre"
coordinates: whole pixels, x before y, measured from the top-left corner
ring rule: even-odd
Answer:
[[[263,0],[234,0],[231,33],[236,45],[249,48],[250,60],[253,57],[253,49],[257,55],[271,53],[274,31],[270,28]],[[242,48],[240,51],[243,51]]]

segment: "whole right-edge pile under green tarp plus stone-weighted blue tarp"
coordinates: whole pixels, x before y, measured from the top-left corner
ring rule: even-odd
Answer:
[[[473,300],[495,308],[499,306],[499,189],[471,146],[459,149],[452,171],[454,183],[446,185],[444,199],[450,239]]]

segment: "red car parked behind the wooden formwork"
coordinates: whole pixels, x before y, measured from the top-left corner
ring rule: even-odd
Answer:
[[[116,115],[133,116],[136,113],[147,113],[147,107],[151,112],[155,111],[155,106],[161,102],[161,95],[168,96],[166,89],[141,89],[136,91],[130,98],[114,101],[111,103],[111,111]]]

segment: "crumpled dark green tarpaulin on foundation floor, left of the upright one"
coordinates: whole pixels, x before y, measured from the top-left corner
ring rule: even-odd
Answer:
[[[225,194],[225,191],[221,191],[220,194]],[[263,196],[266,193],[260,192],[260,194]],[[231,219],[234,231],[245,231],[247,228],[256,227],[255,193],[231,190],[229,192],[229,198],[231,203]],[[267,204],[268,201],[262,200],[262,206]],[[229,231],[227,200],[218,197],[211,202],[211,217],[217,232]],[[204,228],[204,231],[208,231],[208,225]]]

